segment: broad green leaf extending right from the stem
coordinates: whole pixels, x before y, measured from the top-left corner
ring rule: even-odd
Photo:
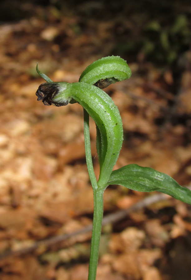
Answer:
[[[112,171],[108,185],[116,184],[141,192],[158,191],[191,204],[191,191],[189,189],[181,187],[169,175],[149,167],[129,164]]]

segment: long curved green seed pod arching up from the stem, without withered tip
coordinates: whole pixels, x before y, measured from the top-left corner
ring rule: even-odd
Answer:
[[[70,96],[88,112],[97,126],[97,149],[100,163],[98,184],[106,184],[119,156],[123,142],[122,119],[107,93],[96,86],[77,82],[68,84],[60,96]],[[54,99],[53,99],[54,100]]]

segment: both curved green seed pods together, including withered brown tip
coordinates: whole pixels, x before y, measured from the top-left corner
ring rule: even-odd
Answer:
[[[131,76],[126,61],[119,56],[101,58],[84,70],[80,82],[71,84],[52,82],[38,70],[38,65],[36,71],[47,81],[36,91],[37,100],[55,106],[78,102],[95,121],[100,164],[98,186],[105,186],[122,147],[123,128],[117,106],[102,88]]]

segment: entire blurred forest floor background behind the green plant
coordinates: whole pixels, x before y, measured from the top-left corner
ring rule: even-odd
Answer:
[[[88,277],[91,232],[71,235],[93,217],[83,110],[37,102],[44,80],[36,63],[53,81],[78,82],[98,58],[127,60],[131,78],[105,89],[124,127],[115,168],[149,166],[189,187],[190,27],[189,0],[1,1],[0,279]],[[92,120],[90,125],[98,177]],[[104,215],[152,195],[109,186]],[[160,200],[103,227],[97,280],[190,278],[189,205]]]

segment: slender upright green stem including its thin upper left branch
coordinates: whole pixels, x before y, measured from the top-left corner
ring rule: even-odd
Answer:
[[[100,236],[101,236],[102,220],[103,220],[104,189],[101,187],[98,188],[97,180],[93,170],[91,146],[90,146],[90,134],[89,134],[89,114],[86,112],[86,110],[84,110],[84,142],[85,142],[86,163],[88,167],[89,178],[93,187],[93,200],[94,200],[93,229],[92,229],[88,280],[95,280],[97,266],[98,266],[99,244],[100,244]]]

